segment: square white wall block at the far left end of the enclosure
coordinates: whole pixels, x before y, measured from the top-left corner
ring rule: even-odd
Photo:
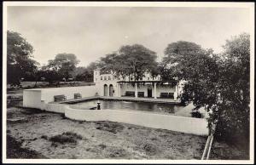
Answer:
[[[41,90],[40,89],[23,90],[23,106],[40,109],[40,107],[41,107]]]

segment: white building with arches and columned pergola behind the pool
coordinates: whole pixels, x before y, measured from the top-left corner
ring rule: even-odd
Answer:
[[[145,74],[139,81],[133,77],[117,78],[112,74],[101,74],[94,71],[94,82],[99,95],[107,97],[143,97],[152,99],[177,100],[182,93],[183,82],[162,81],[161,77]]]

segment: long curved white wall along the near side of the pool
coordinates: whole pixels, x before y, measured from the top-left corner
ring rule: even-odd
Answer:
[[[207,120],[177,117],[144,111],[78,110],[67,107],[65,116],[80,121],[125,122],[150,128],[162,128],[186,134],[207,135]]]

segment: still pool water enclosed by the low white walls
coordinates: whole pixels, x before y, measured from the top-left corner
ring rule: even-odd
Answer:
[[[75,103],[70,105],[73,108],[88,109],[91,107],[96,107],[97,102],[100,102],[101,109],[110,110],[131,110],[131,111],[154,111],[162,113],[175,113],[184,106],[182,105],[172,105],[165,103],[146,103],[146,102],[130,102],[130,101],[113,101],[113,100],[90,100]]]

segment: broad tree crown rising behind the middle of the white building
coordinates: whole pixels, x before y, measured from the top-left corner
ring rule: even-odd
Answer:
[[[143,45],[125,45],[117,53],[107,54],[101,59],[102,71],[112,72],[116,77],[132,77],[135,81],[145,72],[154,72],[157,67],[156,54]]]

